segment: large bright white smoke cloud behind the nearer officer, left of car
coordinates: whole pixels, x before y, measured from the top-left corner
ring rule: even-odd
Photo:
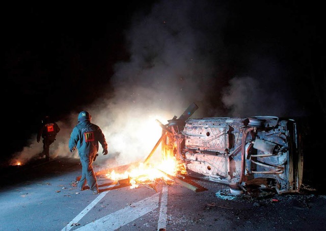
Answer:
[[[130,60],[116,63],[111,77],[114,92],[84,108],[108,143],[109,154],[103,157],[100,148],[97,163],[145,160],[161,135],[155,119],[166,124],[192,102],[202,104],[215,70],[212,47],[219,39],[212,41],[209,33],[219,29],[211,23],[217,12],[205,2],[161,1],[149,14],[135,14],[125,33]],[[50,156],[76,157],[68,150],[76,121],[74,113],[70,121],[59,122],[61,132],[50,147]],[[18,157],[41,151],[42,145],[32,140]]]

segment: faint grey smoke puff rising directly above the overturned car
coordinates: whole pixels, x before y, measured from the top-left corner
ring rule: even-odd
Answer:
[[[248,57],[249,76],[235,76],[223,89],[222,101],[230,116],[303,116],[285,68],[272,57]]]

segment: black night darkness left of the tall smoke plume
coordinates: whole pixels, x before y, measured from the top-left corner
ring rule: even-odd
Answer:
[[[112,91],[113,64],[128,58],[123,30],[135,10],[150,6],[151,1],[130,1],[114,7],[9,4],[4,9],[7,155],[28,145],[44,116],[64,120]]]

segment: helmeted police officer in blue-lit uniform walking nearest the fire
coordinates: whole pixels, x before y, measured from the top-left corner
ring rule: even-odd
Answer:
[[[94,194],[98,194],[98,185],[93,170],[93,159],[96,157],[99,144],[102,145],[103,155],[107,154],[107,143],[99,126],[91,123],[92,116],[87,111],[78,114],[78,124],[73,128],[69,139],[69,150],[78,149],[82,164],[82,177],[78,189],[83,190],[86,183]]]

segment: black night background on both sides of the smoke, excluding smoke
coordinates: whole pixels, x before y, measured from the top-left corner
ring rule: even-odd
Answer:
[[[155,4],[161,3],[8,4],[4,7],[2,101],[4,122],[8,123],[3,139],[4,156],[28,145],[44,115],[64,121],[71,113],[84,110],[85,105],[104,95],[114,97],[115,85],[111,83],[114,64],[128,61],[131,56],[125,31],[133,23],[134,13],[142,11],[147,15]],[[291,102],[295,107],[286,107],[284,98],[278,101],[276,96],[269,99],[273,102],[271,107],[284,107],[286,115],[304,121],[301,131],[310,157],[306,155],[305,164],[314,168],[319,158],[324,159],[324,155],[320,156],[322,135],[317,135],[322,133],[326,122],[323,7],[296,1],[208,3],[223,9],[216,11],[216,15],[223,14],[224,21],[210,21],[208,16],[197,13],[196,8],[191,14],[195,29],[195,22],[204,22],[198,29],[210,34],[210,39],[204,42],[211,47],[206,49],[206,54],[215,57],[211,60],[216,70],[216,81],[211,82],[214,90],[205,92],[205,104],[201,108],[206,112],[205,117],[229,115],[230,108],[221,100],[229,81],[247,75],[252,67],[257,72],[270,70],[250,63],[255,54],[273,57],[282,65],[282,76],[271,82],[276,89],[274,95],[289,93],[291,97],[285,97],[286,103]],[[180,12],[182,4],[188,3],[180,2]],[[223,25],[216,36],[218,48],[212,39],[215,24]],[[219,55],[214,55],[214,47]],[[268,74],[264,78],[260,81],[269,83]],[[252,107],[259,105],[253,102]],[[212,108],[219,109],[219,114]],[[315,170],[309,174],[319,173]]]

